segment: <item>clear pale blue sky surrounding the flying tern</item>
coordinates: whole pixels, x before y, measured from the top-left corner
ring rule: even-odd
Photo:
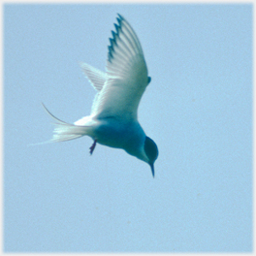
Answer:
[[[105,70],[116,14],[152,78],[139,108],[159,148],[143,161],[51,138],[90,113],[79,63]],[[5,5],[6,252],[252,250],[252,5]]]

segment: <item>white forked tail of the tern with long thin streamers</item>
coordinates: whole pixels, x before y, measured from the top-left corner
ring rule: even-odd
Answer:
[[[51,112],[49,112],[44,104],[43,106],[48,112],[48,114],[56,121],[56,123],[54,123],[55,128],[53,131],[52,139],[48,141],[48,143],[70,141],[87,135],[89,128],[88,126],[66,123],[55,117]]]

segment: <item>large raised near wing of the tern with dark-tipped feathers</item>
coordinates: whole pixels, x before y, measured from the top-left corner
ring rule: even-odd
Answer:
[[[98,118],[114,116],[137,119],[144,89],[149,83],[144,52],[133,28],[118,15],[110,39],[107,80],[99,91],[92,113]]]

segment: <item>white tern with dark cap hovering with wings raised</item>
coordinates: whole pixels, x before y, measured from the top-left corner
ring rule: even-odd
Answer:
[[[143,48],[131,25],[118,15],[110,38],[106,73],[82,63],[85,77],[97,90],[91,113],[74,124],[66,123],[47,112],[57,121],[49,142],[64,142],[89,136],[94,143],[122,148],[149,164],[154,176],[157,145],[141,127],[137,110],[150,78],[144,61]]]

